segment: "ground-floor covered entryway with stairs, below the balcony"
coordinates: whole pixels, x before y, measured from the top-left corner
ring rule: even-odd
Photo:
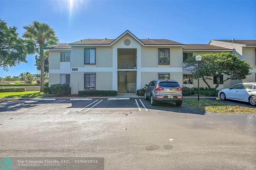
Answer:
[[[136,71],[117,71],[117,92],[136,93]]]

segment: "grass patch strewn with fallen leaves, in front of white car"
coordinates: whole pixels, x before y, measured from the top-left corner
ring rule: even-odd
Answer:
[[[234,104],[226,104],[214,100],[201,98],[197,101],[197,98],[183,98],[183,102],[190,107],[201,109],[207,112],[218,113],[256,113],[256,109],[239,106]]]

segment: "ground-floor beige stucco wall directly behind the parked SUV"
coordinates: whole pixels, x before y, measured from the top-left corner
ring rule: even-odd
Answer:
[[[178,81],[179,84],[182,86],[182,72],[169,72],[169,73],[170,73],[170,79]],[[143,88],[145,84],[148,84],[150,81],[154,79],[158,79],[158,72],[141,72],[140,87]]]

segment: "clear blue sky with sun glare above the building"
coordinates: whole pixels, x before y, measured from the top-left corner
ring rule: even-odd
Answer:
[[[256,39],[256,1],[82,1],[0,0],[0,18],[8,26],[48,23],[60,43],[85,38],[116,38],[129,29],[138,38],[208,43],[211,39]],[[28,63],[0,68],[0,76],[36,71]]]

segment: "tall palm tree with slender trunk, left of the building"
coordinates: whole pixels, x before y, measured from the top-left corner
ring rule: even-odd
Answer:
[[[45,23],[33,21],[32,24],[23,27],[26,31],[22,37],[30,40],[30,54],[39,53],[41,60],[41,82],[44,82],[44,51],[43,48],[58,43],[55,31]],[[44,83],[41,83],[40,91],[44,89]]]

